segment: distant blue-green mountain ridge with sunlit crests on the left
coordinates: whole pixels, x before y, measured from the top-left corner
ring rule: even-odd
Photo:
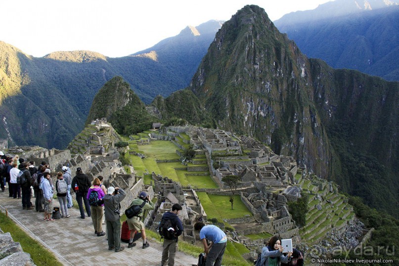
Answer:
[[[190,27],[194,35],[183,29],[148,51],[120,58],[92,51],[36,58],[0,42],[0,138],[9,145],[65,148],[83,129],[94,95],[115,76],[145,103],[185,88],[221,24]]]

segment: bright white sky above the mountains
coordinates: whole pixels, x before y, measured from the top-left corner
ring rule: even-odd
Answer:
[[[247,4],[274,21],[329,0],[0,0],[0,41],[42,57],[90,50],[121,57],[176,36],[186,26],[229,20]]]

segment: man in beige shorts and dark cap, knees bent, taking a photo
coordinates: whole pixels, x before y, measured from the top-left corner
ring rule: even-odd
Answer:
[[[144,223],[141,222],[141,218],[143,217],[143,213],[144,213],[145,210],[154,210],[154,203],[151,202],[151,200],[150,200],[149,196],[147,195],[147,193],[142,191],[138,195],[137,199],[133,199],[133,201],[130,204],[130,206],[142,205],[143,201],[145,201],[146,203],[141,208],[140,213],[137,216],[133,216],[132,218],[127,220],[128,221],[128,225],[129,225],[129,230],[132,230],[132,233],[130,235],[130,242],[129,242],[128,248],[133,248],[136,245],[136,243],[133,243],[134,234],[135,234],[136,231],[140,231],[141,232],[141,239],[143,240],[143,249],[148,248],[150,246],[150,244],[148,244],[147,239],[145,237],[145,226],[144,226]],[[129,208],[130,208],[130,206],[129,206]]]

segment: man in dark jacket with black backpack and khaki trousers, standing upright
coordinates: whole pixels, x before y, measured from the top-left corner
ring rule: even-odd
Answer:
[[[183,232],[183,224],[177,217],[181,211],[180,204],[172,206],[172,211],[162,216],[159,233],[164,238],[161,266],[174,266],[177,252],[178,236]]]

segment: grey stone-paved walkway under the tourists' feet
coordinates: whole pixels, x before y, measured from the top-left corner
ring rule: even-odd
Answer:
[[[34,203],[35,198],[31,201]],[[54,206],[59,206],[57,200],[54,201]],[[108,251],[105,236],[94,235],[91,218],[81,219],[78,209],[69,209],[70,218],[54,222],[43,221],[43,213],[22,210],[21,199],[9,198],[8,188],[0,192],[0,211],[4,213],[5,209],[11,219],[52,251],[63,265],[161,265],[161,244],[154,243],[151,239],[147,249],[142,249],[141,240],[138,240],[133,249],[128,249],[127,243],[122,242],[124,251]],[[176,255],[176,266],[191,266],[196,263],[197,258],[181,252]]]

